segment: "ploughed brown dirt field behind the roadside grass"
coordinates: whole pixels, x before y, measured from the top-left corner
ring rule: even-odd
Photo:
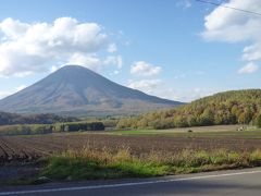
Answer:
[[[151,150],[175,154],[183,149],[228,149],[234,151],[261,148],[260,138],[167,137],[167,136],[116,136],[103,134],[72,134],[41,136],[0,137],[0,163],[32,161],[39,157],[67,149],[116,149],[128,147],[134,154]]]

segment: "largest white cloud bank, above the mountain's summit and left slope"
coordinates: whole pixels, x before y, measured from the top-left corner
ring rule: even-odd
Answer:
[[[101,51],[114,52],[116,45],[97,23],[72,17],[53,23],[23,23],[10,17],[0,22],[0,75],[48,72],[53,65],[71,62],[98,70]]]

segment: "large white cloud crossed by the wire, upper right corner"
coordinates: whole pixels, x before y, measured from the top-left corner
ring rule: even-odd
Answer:
[[[261,13],[260,0],[229,0],[223,5]],[[207,40],[247,42],[248,46],[243,49],[243,60],[249,62],[261,60],[261,17],[217,7],[204,17],[204,27],[202,36]],[[251,70],[249,68],[248,70]]]

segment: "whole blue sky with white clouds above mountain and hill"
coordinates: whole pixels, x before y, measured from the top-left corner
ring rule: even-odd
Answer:
[[[258,0],[221,2],[261,12]],[[254,15],[195,0],[0,4],[0,98],[72,63],[181,101],[260,88],[261,17]]]

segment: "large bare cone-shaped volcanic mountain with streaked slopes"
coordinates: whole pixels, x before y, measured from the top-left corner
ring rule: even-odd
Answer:
[[[124,87],[78,65],[66,65],[0,100],[0,110],[65,115],[125,115],[182,105]]]

